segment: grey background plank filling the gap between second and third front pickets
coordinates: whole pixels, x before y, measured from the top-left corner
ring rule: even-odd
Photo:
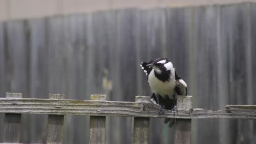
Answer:
[[[65,46],[67,49],[67,99],[90,100],[90,91],[94,83],[90,83],[93,77],[87,77],[93,61],[88,56],[88,14],[71,15],[65,18]],[[92,55],[92,53],[91,53]],[[87,82],[89,81],[89,82]],[[89,116],[65,117],[63,143],[81,143],[89,141]],[[81,128],[83,127],[83,128]],[[84,134],[80,136],[79,134]]]

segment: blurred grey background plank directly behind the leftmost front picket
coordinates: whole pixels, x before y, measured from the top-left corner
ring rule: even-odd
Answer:
[[[22,93],[24,98],[29,98],[30,73],[29,73],[29,28],[26,20],[7,22],[6,54],[7,57],[7,87],[8,91]],[[27,117],[22,115],[21,123]],[[21,131],[27,131],[27,123],[22,125]],[[21,133],[21,141],[29,139],[28,133]]]

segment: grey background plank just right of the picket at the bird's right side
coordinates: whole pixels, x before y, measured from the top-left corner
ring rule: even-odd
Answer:
[[[217,62],[216,47],[218,46],[218,7],[194,8],[193,22],[194,45],[196,47],[196,61],[193,69],[195,69],[197,83],[195,106],[218,110],[218,97],[216,97],[218,95],[218,69],[215,64]],[[197,143],[205,143],[206,141],[209,144],[219,143],[218,128],[216,119],[198,120]],[[211,129],[211,133],[205,133],[208,129]],[[212,140],[208,141],[209,139]]]

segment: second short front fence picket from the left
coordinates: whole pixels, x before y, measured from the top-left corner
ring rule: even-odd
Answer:
[[[65,99],[65,94],[49,94],[50,99]],[[56,107],[57,109],[57,107]],[[47,143],[61,144],[64,115],[48,115]]]

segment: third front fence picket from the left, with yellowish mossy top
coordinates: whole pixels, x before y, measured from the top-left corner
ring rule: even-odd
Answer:
[[[91,100],[106,100],[106,95],[91,94]],[[106,117],[90,116],[90,144],[105,143],[106,136]]]

